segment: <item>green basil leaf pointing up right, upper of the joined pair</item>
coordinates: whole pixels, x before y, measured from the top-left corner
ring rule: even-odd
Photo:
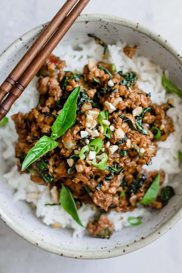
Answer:
[[[62,136],[66,130],[68,130],[73,122],[76,119],[76,102],[80,93],[80,86],[76,87],[71,95],[69,95],[66,100],[65,105],[63,106],[59,116],[56,121],[53,123],[52,129],[52,138],[58,138]]]

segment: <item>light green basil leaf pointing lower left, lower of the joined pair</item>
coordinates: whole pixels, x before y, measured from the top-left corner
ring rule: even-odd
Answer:
[[[22,171],[24,171],[30,164],[35,160],[42,157],[45,153],[53,150],[58,146],[58,142],[52,140],[49,136],[42,136],[38,142],[35,143],[35,146],[29,150],[25,160],[22,163]]]

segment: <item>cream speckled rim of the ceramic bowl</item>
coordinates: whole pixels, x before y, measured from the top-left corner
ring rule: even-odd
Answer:
[[[126,28],[130,28],[133,31],[137,31],[139,33],[142,33],[149,38],[153,39],[153,41],[160,44],[163,48],[165,48],[168,52],[170,52],[182,65],[182,55],[181,52],[178,51],[174,45],[172,45],[170,42],[168,42],[166,39],[164,39],[161,35],[159,35],[157,32],[148,29],[147,27],[141,25],[138,22],[134,22],[130,19],[121,18],[114,15],[106,15],[106,14],[82,14],[79,16],[79,18],[76,20],[76,23],[83,23],[83,22],[103,22],[103,23],[114,23],[116,25],[121,25]],[[5,51],[0,55],[0,62],[3,63],[7,60],[7,57],[12,54],[15,51],[15,48],[18,48],[20,45],[22,45],[22,40],[24,42],[28,41],[29,39],[33,38],[36,34],[38,34],[41,30],[45,28],[47,23],[41,24],[30,31],[26,32],[24,35],[22,35],[20,38],[15,40]],[[182,206],[178,208],[176,211],[174,211],[173,215],[170,216],[167,221],[165,221],[160,227],[158,227],[155,231],[147,235],[145,238],[141,238],[140,240],[133,242],[128,247],[127,245],[117,248],[106,248],[106,249],[100,249],[100,250],[77,250],[77,249],[65,249],[63,247],[55,247],[52,245],[48,245],[46,241],[42,241],[41,238],[35,238],[34,234],[27,234],[25,230],[23,230],[21,227],[17,226],[15,224],[15,221],[13,220],[13,216],[8,215],[5,210],[3,210],[0,207],[0,217],[2,220],[13,230],[16,234],[18,234],[20,237],[24,238],[26,241],[34,244],[35,246],[38,246],[39,248],[42,248],[46,251],[49,251],[54,254],[58,254],[64,257],[69,258],[81,258],[81,259],[103,259],[103,258],[112,258],[117,257],[123,254],[130,253],[132,251],[138,250],[147,244],[150,244],[151,242],[155,241],[157,238],[162,236],[164,233],[166,233],[168,230],[171,229],[171,227],[176,224],[180,218],[182,217]]]

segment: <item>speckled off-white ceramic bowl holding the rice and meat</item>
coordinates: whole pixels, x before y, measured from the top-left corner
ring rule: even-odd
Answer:
[[[36,27],[16,40],[0,56],[0,82],[8,75],[26,49],[45,25]],[[86,33],[95,33],[107,43],[117,40],[136,44],[138,51],[150,56],[155,64],[169,70],[171,80],[182,86],[182,55],[160,35],[139,23],[109,15],[81,15],[72,26],[62,44],[78,45],[86,41]],[[3,163],[0,164],[2,169]],[[176,181],[181,181],[177,175]],[[0,175],[0,216],[17,234],[42,249],[61,256],[84,259],[115,257],[142,248],[168,231],[182,214],[182,184],[175,198],[160,211],[153,211],[150,219],[143,219],[142,226],[131,226],[115,232],[110,240],[84,237],[72,238],[71,231],[55,230],[36,218],[25,202],[13,202],[12,191]]]

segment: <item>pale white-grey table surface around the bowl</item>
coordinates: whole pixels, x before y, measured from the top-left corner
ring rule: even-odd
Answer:
[[[63,2],[1,1],[0,52],[29,29],[51,19]],[[140,22],[166,37],[182,51],[181,9],[181,0],[91,0],[84,12],[118,15]],[[75,260],[36,248],[0,220],[0,273],[181,272],[181,242],[182,220],[157,241],[125,256],[106,260]]]

